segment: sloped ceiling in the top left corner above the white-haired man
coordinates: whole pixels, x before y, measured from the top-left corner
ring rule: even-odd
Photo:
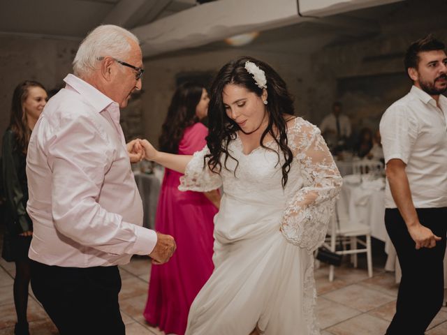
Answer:
[[[131,29],[193,6],[196,0],[0,0],[0,34],[81,39],[101,23]]]

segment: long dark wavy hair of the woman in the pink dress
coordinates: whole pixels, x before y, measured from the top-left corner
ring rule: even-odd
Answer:
[[[196,107],[202,97],[203,89],[203,86],[193,82],[184,82],[177,87],[161,127],[159,137],[161,151],[177,154],[184,130],[198,122]]]

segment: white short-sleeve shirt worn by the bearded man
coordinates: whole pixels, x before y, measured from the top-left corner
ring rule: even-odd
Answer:
[[[416,208],[447,207],[447,98],[439,106],[416,86],[388,107],[380,121],[385,163],[406,164]],[[386,183],[385,207],[397,208]]]

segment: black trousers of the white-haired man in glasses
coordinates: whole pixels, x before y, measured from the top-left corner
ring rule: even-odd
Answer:
[[[31,261],[31,288],[61,335],[124,335],[118,267],[57,267]]]

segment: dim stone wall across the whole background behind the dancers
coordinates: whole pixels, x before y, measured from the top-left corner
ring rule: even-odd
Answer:
[[[444,19],[439,20],[444,17],[447,4],[441,0],[432,3],[437,6],[406,1],[395,13],[377,18],[377,34],[347,39],[349,43],[345,38],[344,43],[332,43],[312,54],[305,52],[305,45],[302,54],[258,52],[247,45],[243,49],[179,52],[146,59],[142,92],[122,110],[126,139],[147,137],[156,145],[177,77],[185,73],[216,73],[227,61],[242,55],[266,61],[277,70],[295,96],[295,114],[318,125],[330,112],[333,101],[342,101],[357,131],[364,126],[374,129],[386,107],[411,86],[402,65],[409,43],[429,32],[447,42]],[[0,35],[0,133],[9,121],[15,85],[33,79],[47,89],[58,87],[71,72],[78,43],[79,40]]]

